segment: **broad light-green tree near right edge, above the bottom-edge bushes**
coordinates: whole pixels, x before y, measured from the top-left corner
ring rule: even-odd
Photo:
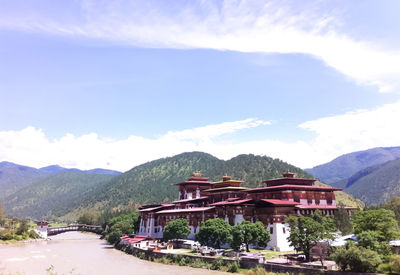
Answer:
[[[358,211],[352,220],[354,233],[375,231],[378,241],[391,241],[398,237],[397,221],[393,211],[386,209]]]

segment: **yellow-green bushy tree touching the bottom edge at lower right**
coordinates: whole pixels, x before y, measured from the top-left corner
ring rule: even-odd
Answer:
[[[354,272],[375,272],[382,263],[377,252],[358,247],[351,242],[339,247],[332,254],[332,258],[342,271],[349,269]]]

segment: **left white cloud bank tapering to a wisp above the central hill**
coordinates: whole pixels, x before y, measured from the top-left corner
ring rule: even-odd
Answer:
[[[186,151],[212,149],[213,138],[236,131],[268,125],[270,122],[245,119],[183,131],[171,131],[156,139],[130,136],[123,140],[99,138],[91,133],[79,137],[66,134],[49,140],[40,129],[0,132],[0,160],[33,167],[59,164],[81,169],[108,168],[125,171],[135,165]]]

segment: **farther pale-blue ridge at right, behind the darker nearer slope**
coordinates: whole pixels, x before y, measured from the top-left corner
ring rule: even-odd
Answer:
[[[342,180],[348,179],[358,171],[398,158],[400,147],[373,148],[342,155],[331,162],[305,171],[327,184],[340,187],[343,185]]]

